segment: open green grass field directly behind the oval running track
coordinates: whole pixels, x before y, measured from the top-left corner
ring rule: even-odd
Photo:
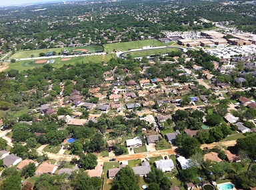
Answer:
[[[164,47],[165,43],[161,43],[157,40],[145,40],[145,41],[132,41],[127,43],[113,43],[104,45],[105,52],[112,52],[115,50],[129,50],[129,49],[137,49],[147,46],[154,46],[154,47]]]

